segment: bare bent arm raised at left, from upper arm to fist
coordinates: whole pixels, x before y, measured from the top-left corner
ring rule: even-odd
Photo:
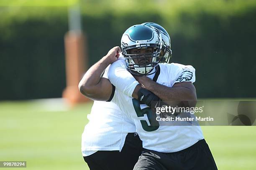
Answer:
[[[120,47],[113,47],[107,55],[90,67],[78,85],[83,95],[92,100],[109,100],[113,86],[107,78],[100,76],[108,65],[118,59],[120,51]]]

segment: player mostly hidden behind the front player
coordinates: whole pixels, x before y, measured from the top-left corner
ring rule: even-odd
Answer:
[[[160,62],[168,62],[171,57],[168,33],[158,24],[143,24],[159,29],[156,32],[163,39]],[[130,80],[133,82],[133,77]],[[126,79],[123,85],[123,92],[127,95],[131,95],[138,82],[130,84]],[[134,123],[115,103],[104,101],[95,101],[87,118],[89,123],[82,134],[82,155],[90,169],[132,169],[142,151]],[[116,161],[110,161],[110,158]]]

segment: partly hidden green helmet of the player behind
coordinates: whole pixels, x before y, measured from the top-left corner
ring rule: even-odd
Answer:
[[[163,45],[160,53],[160,62],[169,63],[169,60],[172,57],[172,50],[171,50],[171,39],[168,32],[161,25],[157,23],[142,23],[141,25],[147,25],[148,27],[153,28],[154,31],[157,32],[157,34],[162,37]]]

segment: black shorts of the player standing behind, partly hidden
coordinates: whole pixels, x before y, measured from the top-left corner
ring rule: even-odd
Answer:
[[[142,152],[142,142],[137,133],[128,133],[121,152],[97,151],[85,156],[90,170],[132,170]]]

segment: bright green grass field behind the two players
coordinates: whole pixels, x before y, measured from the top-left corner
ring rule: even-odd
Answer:
[[[51,100],[0,102],[0,161],[24,160],[31,170],[88,170],[80,143],[91,105],[70,109]],[[256,169],[255,126],[202,130],[219,170]]]

